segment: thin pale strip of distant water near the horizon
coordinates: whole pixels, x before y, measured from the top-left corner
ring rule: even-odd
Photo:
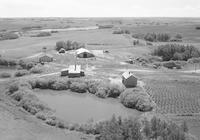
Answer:
[[[52,31],[58,31],[58,32],[65,32],[65,31],[85,31],[85,30],[95,30],[99,29],[98,26],[88,26],[88,27],[70,27],[70,28],[58,28],[58,29],[41,29],[41,30],[32,30],[30,32],[52,32]]]

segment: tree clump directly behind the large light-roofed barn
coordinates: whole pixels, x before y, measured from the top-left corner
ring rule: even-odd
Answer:
[[[85,45],[76,41],[71,41],[71,40],[56,42],[55,49],[59,51],[61,48],[65,49],[66,51],[69,51],[69,50],[76,50],[79,48],[85,48]]]

